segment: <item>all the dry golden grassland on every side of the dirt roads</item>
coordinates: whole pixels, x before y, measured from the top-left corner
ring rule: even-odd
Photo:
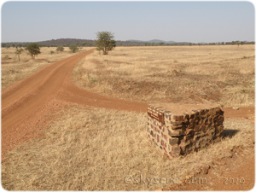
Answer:
[[[35,61],[26,52],[18,61],[15,48],[0,49],[0,91],[73,55],[67,48],[51,55],[52,49],[42,48]],[[255,64],[256,45],[117,47],[81,59],[73,84],[137,102],[249,107],[255,106]],[[226,118],[220,143],[168,160],[147,140],[146,113],[72,105],[49,116],[43,137],[17,146],[0,163],[0,191],[154,191],[230,157],[237,146],[252,154],[256,142],[253,117]],[[145,182],[137,183],[140,177]],[[160,183],[161,177],[169,183]]]

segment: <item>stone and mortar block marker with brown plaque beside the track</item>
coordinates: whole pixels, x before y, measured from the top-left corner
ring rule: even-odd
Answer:
[[[148,104],[148,139],[169,158],[220,141],[223,122],[217,105]]]

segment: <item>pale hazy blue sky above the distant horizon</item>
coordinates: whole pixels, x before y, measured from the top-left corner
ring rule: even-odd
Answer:
[[[256,0],[0,0],[0,43],[57,38],[256,41]]]

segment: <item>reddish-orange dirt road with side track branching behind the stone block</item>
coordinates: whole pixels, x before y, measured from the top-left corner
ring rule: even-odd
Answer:
[[[16,144],[38,136],[35,132],[43,129],[48,120],[45,115],[65,108],[67,104],[146,112],[146,103],[100,96],[81,90],[72,83],[74,65],[92,51],[90,49],[52,63],[0,92],[0,162],[4,154]],[[231,118],[256,116],[256,108],[240,108],[237,111],[224,108],[224,112],[225,117]]]

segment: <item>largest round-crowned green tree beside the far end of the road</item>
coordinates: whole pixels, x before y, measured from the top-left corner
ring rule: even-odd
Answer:
[[[109,50],[113,50],[116,46],[116,41],[113,40],[114,36],[112,32],[96,32],[96,49],[103,51],[103,55],[108,55]]]

